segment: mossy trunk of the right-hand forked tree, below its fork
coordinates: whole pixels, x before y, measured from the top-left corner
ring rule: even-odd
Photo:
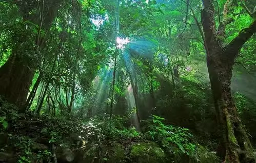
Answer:
[[[225,52],[228,53],[228,52]],[[207,56],[207,66],[214,105],[221,135],[221,146],[226,162],[254,161],[253,150],[231,95],[233,60],[225,58],[224,51],[215,46]]]

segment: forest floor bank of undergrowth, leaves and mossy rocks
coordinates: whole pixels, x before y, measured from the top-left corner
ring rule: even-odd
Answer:
[[[17,114],[13,110],[5,115],[0,162],[219,162],[214,153],[186,139],[181,128],[168,131],[176,138],[168,137],[172,140],[165,147],[162,142],[167,139],[161,138],[161,142],[146,132],[123,127],[118,117],[113,117],[111,125],[102,118],[84,123],[77,118]]]

